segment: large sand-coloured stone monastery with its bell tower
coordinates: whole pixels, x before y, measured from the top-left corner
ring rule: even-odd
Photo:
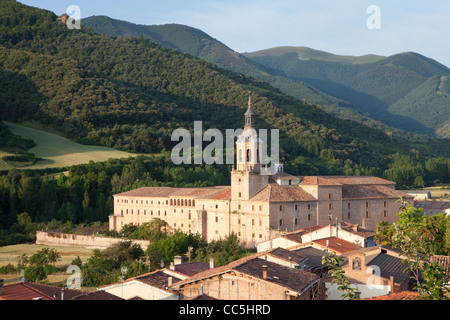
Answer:
[[[249,102],[245,127],[236,141],[231,186],[147,187],[114,195],[110,230],[159,218],[174,230],[202,235],[208,242],[234,233],[242,246],[300,228],[347,222],[375,230],[379,221],[397,220],[404,197],[395,183],[377,177],[293,176],[277,164],[275,174],[262,165],[261,141]]]

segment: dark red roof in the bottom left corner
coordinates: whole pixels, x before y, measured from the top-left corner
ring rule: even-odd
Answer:
[[[18,282],[4,285],[0,300],[61,300],[61,289],[32,282]],[[71,300],[83,293],[81,290],[64,289],[64,300]]]

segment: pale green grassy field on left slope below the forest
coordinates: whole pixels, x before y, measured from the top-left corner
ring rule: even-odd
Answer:
[[[4,123],[15,135],[32,139],[36,143],[36,146],[30,149],[29,152],[34,153],[37,158],[43,159],[34,165],[22,167],[23,169],[60,168],[88,163],[91,160],[97,162],[114,158],[136,156],[135,154],[111,148],[81,145],[53,133],[32,129],[6,121]],[[6,155],[10,154],[0,151],[0,159]],[[0,170],[9,170],[13,168],[18,167],[0,160]]]

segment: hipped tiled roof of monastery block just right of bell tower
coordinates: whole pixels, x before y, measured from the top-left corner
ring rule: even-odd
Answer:
[[[270,183],[259,193],[253,196],[250,200],[289,202],[289,201],[316,201],[317,199],[296,185],[280,186],[277,183]]]

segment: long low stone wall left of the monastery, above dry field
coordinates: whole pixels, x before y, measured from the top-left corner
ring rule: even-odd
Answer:
[[[96,237],[88,235],[78,235],[60,232],[36,232],[36,244],[60,247],[85,247],[92,249],[106,249],[107,247],[120,242],[127,241],[123,238]],[[147,240],[132,240],[146,250],[150,244]]]

